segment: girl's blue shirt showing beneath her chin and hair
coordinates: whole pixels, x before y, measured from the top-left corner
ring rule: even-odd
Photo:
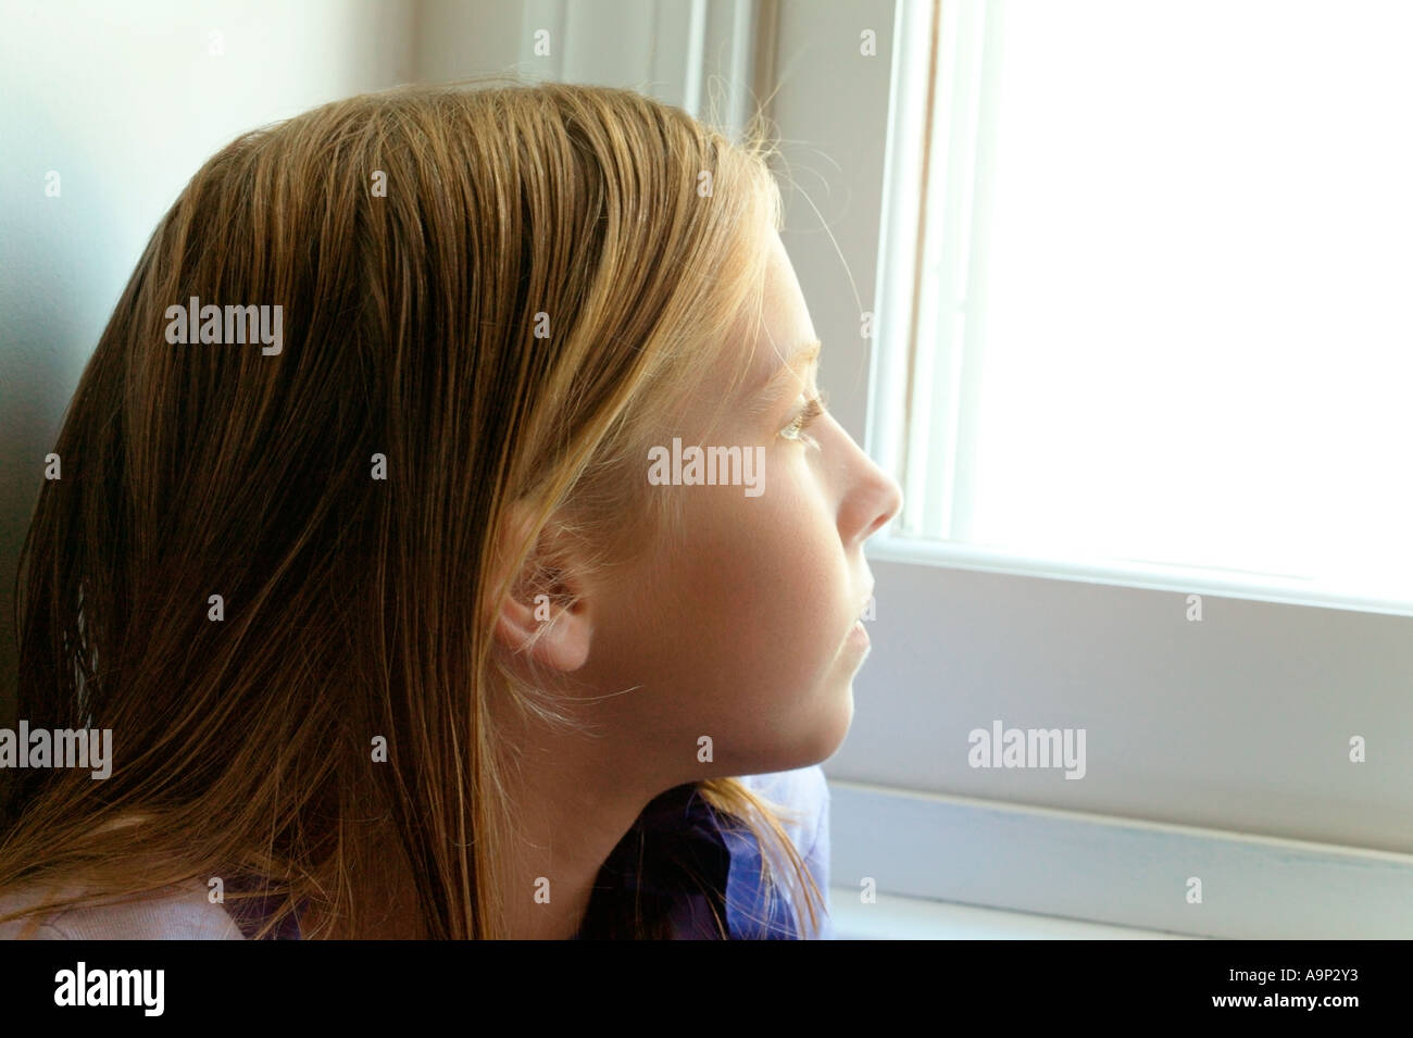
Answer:
[[[723,819],[706,804],[695,784],[678,785],[656,797],[599,871],[585,925],[577,939],[596,936],[598,921],[615,915],[625,900],[664,912],[678,941],[719,939],[716,919],[732,941],[829,939],[829,787],[818,765],[742,780],[759,797],[781,806],[784,826],[824,897],[818,928],[801,935],[793,921],[788,893],[777,887],[767,905],[762,883],[762,849],[749,830]],[[788,876],[784,860],[776,876]],[[230,884],[227,884],[229,887]],[[249,888],[249,887],[247,887]],[[704,893],[705,888],[705,893]],[[252,936],[277,901],[233,901],[236,925]],[[808,926],[808,912],[803,912]],[[291,915],[274,939],[300,939]]]

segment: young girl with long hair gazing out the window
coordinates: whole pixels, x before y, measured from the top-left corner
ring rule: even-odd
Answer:
[[[45,459],[17,716],[112,760],[0,772],[0,933],[829,933],[900,494],[766,157],[458,85],[206,162]]]

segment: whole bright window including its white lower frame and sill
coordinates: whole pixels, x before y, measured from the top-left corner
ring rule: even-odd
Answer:
[[[890,10],[877,157],[866,71],[780,97],[882,185],[865,445],[907,497],[825,765],[836,895],[1407,932],[1413,8]],[[1084,730],[1082,780],[974,764],[999,726]]]

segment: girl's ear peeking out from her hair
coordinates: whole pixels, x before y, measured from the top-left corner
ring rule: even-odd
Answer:
[[[504,575],[510,551],[528,531],[528,517],[512,508],[506,523],[512,537],[503,541],[503,558],[493,571]],[[519,538],[519,539],[517,539]],[[541,545],[545,537],[541,537]],[[528,655],[541,667],[577,671],[589,658],[593,624],[589,619],[588,587],[579,579],[577,559],[558,549],[552,555],[541,547],[531,552],[512,582],[510,593],[496,614],[496,641],[514,655]],[[495,585],[493,585],[495,586]]]

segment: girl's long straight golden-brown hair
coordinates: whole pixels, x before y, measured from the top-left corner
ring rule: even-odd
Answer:
[[[52,909],[236,871],[281,898],[267,926],[314,905],[311,936],[374,936],[396,863],[421,936],[504,936],[514,747],[489,706],[567,723],[492,652],[510,506],[537,517],[512,575],[551,517],[605,563],[673,528],[640,459],[759,319],[781,203],[759,114],[736,143],[629,90],[478,86],[243,134],[153,233],[17,580],[18,716],[110,729],[120,761],[10,772],[0,890],[83,891]],[[192,297],[281,306],[281,345],[170,345]],[[698,789],[814,926],[776,805]]]

